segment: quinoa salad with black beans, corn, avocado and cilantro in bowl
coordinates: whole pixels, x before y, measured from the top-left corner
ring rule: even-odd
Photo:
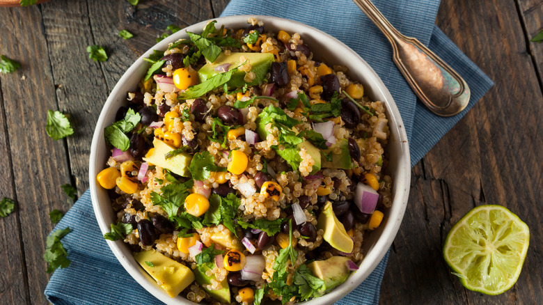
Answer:
[[[392,203],[384,104],[298,33],[212,21],[155,50],[105,128],[97,182],[170,297],[283,304],[358,269]],[[331,60],[331,58],[328,58]]]

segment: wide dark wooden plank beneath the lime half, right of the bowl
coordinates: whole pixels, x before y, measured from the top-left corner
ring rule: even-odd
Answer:
[[[499,14],[489,12],[500,12]],[[543,298],[543,97],[515,3],[443,0],[438,25],[496,85],[413,169],[406,217],[381,303],[530,304]],[[491,54],[491,55],[489,55]],[[441,258],[450,228],[475,205],[504,205],[530,227],[517,284],[498,296],[466,290]],[[406,263],[411,262],[411,263]],[[406,299],[407,297],[407,299]]]

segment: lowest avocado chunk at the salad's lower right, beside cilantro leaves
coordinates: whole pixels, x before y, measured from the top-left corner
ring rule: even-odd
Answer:
[[[349,277],[351,272],[347,268],[347,260],[349,258],[345,256],[332,256],[327,260],[315,260],[308,264],[313,275],[324,281],[323,294],[340,286]]]

